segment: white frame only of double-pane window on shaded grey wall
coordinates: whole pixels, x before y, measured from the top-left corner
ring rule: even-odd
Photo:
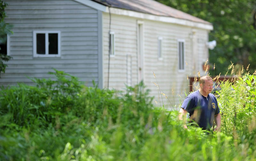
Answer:
[[[57,54],[49,54],[49,42],[48,42],[48,34],[58,34],[58,53]],[[37,54],[36,53],[36,34],[45,34],[45,54]],[[33,31],[33,56],[34,57],[60,57],[60,31]],[[46,45],[48,44],[48,45]]]

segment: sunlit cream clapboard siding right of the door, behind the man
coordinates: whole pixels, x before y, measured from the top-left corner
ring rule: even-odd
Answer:
[[[187,76],[195,76],[197,71],[203,73],[201,63],[202,60],[206,60],[208,57],[208,50],[205,48],[208,33],[206,30],[197,29],[196,35],[194,36],[200,37],[203,40],[193,44],[190,36],[191,27],[145,20],[144,30],[144,59],[146,69],[144,82],[151,89],[151,95],[155,96],[158,105],[160,104],[159,101],[162,102],[162,98],[158,100],[158,88],[152,83],[156,81],[158,82],[159,88],[171,100],[172,104],[179,104],[180,101],[184,100],[185,92],[187,94],[189,93]],[[158,36],[163,38],[162,60],[158,60],[157,58]],[[185,41],[185,70],[182,72],[178,70],[178,39]],[[198,47],[193,56],[192,46],[194,45]],[[194,63],[196,63],[196,68],[194,68]],[[156,74],[157,80],[154,78],[153,71]],[[163,97],[164,103],[169,106],[170,104],[166,102],[165,96]]]

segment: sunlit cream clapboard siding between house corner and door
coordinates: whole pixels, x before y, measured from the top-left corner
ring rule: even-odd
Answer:
[[[109,88],[124,90],[125,84],[137,84],[136,19],[111,14],[111,31],[115,33],[115,56],[110,57]],[[103,13],[103,75],[105,88],[108,87],[108,34],[109,14]],[[128,61],[127,58],[129,58]],[[127,67],[129,71],[127,71]]]

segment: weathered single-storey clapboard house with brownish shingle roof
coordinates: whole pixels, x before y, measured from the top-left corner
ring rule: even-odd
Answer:
[[[188,76],[203,73],[211,23],[154,0],[4,0],[7,62],[0,84],[33,84],[51,68],[124,89],[144,80],[175,102],[189,91]],[[46,45],[48,44],[48,45]],[[156,74],[154,78],[153,71]],[[174,92],[174,96],[172,96]]]

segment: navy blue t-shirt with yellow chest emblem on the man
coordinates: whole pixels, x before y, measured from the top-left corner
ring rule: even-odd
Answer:
[[[216,97],[211,93],[204,97],[199,90],[189,94],[181,108],[188,111],[190,119],[195,120],[199,127],[203,129],[210,129],[214,115],[220,113]]]

